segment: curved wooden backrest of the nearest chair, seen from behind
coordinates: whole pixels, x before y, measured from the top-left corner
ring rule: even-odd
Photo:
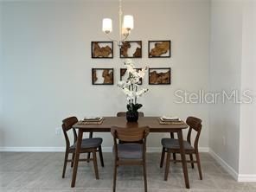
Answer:
[[[137,142],[138,140],[142,140],[143,158],[145,159],[146,138],[149,135],[149,132],[150,132],[150,129],[148,126],[136,127],[136,128],[133,128],[133,127],[123,128],[123,127],[112,126],[111,133],[114,140],[116,160],[118,158],[118,143],[117,143],[118,139],[125,142]]]

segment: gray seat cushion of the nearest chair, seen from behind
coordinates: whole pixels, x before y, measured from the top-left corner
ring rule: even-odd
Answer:
[[[114,148],[113,152],[115,152]],[[118,158],[142,159],[143,144],[118,144]]]

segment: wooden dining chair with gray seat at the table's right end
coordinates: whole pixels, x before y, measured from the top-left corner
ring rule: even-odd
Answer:
[[[201,169],[201,162],[200,162],[200,157],[198,152],[198,140],[202,130],[202,120],[200,118],[189,117],[186,120],[186,124],[189,125],[189,132],[187,135],[187,141],[183,141],[183,146],[184,146],[185,154],[188,154],[190,157],[190,160],[187,160],[187,163],[191,163],[192,169],[194,169],[194,163],[197,163],[199,177],[202,180],[202,169]],[[193,146],[191,144],[192,130],[196,132]],[[181,160],[176,160],[176,153],[180,154],[180,144],[179,144],[179,140],[174,138],[173,135],[171,135],[171,138],[162,138],[161,143],[163,145],[163,150],[162,150],[162,156],[160,161],[160,168],[163,167],[164,156],[165,156],[165,153],[167,153],[165,173],[164,173],[164,180],[167,181],[168,173],[170,169],[170,162],[174,162],[174,163],[182,162]],[[173,153],[173,159],[170,159],[170,153]],[[195,154],[196,160],[193,159],[193,154]]]

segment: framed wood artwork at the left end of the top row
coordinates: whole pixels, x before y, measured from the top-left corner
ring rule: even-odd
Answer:
[[[112,59],[113,58],[113,42],[92,42],[92,58]]]

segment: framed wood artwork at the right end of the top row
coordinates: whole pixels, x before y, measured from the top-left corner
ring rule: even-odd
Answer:
[[[170,41],[149,41],[149,58],[170,57]]]

